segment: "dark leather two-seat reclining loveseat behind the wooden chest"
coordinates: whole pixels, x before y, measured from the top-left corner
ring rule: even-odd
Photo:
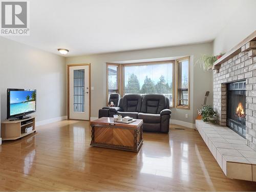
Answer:
[[[122,115],[143,120],[143,131],[169,131],[169,99],[161,94],[124,95],[118,107],[109,108],[109,116]]]

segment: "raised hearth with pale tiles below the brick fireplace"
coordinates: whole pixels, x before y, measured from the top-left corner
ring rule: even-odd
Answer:
[[[226,126],[202,120],[196,120],[196,127],[227,177],[256,181],[256,152],[246,139]]]

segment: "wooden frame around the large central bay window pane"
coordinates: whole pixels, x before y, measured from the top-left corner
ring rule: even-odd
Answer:
[[[125,66],[148,66],[148,65],[158,65],[158,64],[164,64],[164,63],[172,63],[172,65],[173,65],[173,74],[172,74],[172,84],[173,84],[173,86],[172,86],[172,94],[173,94],[173,99],[172,99],[172,101],[173,101],[173,105],[172,106],[169,106],[169,109],[171,109],[171,108],[175,108],[175,96],[176,96],[176,94],[175,94],[175,63],[176,63],[176,61],[175,60],[163,60],[163,61],[150,61],[150,62],[136,62],[136,63],[125,63],[125,64],[121,64],[121,70],[122,70],[122,76],[121,76],[121,95],[123,96],[123,90],[124,90],[124,78],[125,78],[125,76],[124,76],[124,67]]]

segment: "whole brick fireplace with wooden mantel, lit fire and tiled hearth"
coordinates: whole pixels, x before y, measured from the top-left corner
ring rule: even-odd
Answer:
[[[227,177],[256,182],[256,31],[214,63],[214,109],[198,132]]]

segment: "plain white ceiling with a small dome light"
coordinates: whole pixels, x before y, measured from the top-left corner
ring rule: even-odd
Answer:
[[[31,0],[30,36],[9,36],[67,56],[213,40],[243,0]]]

